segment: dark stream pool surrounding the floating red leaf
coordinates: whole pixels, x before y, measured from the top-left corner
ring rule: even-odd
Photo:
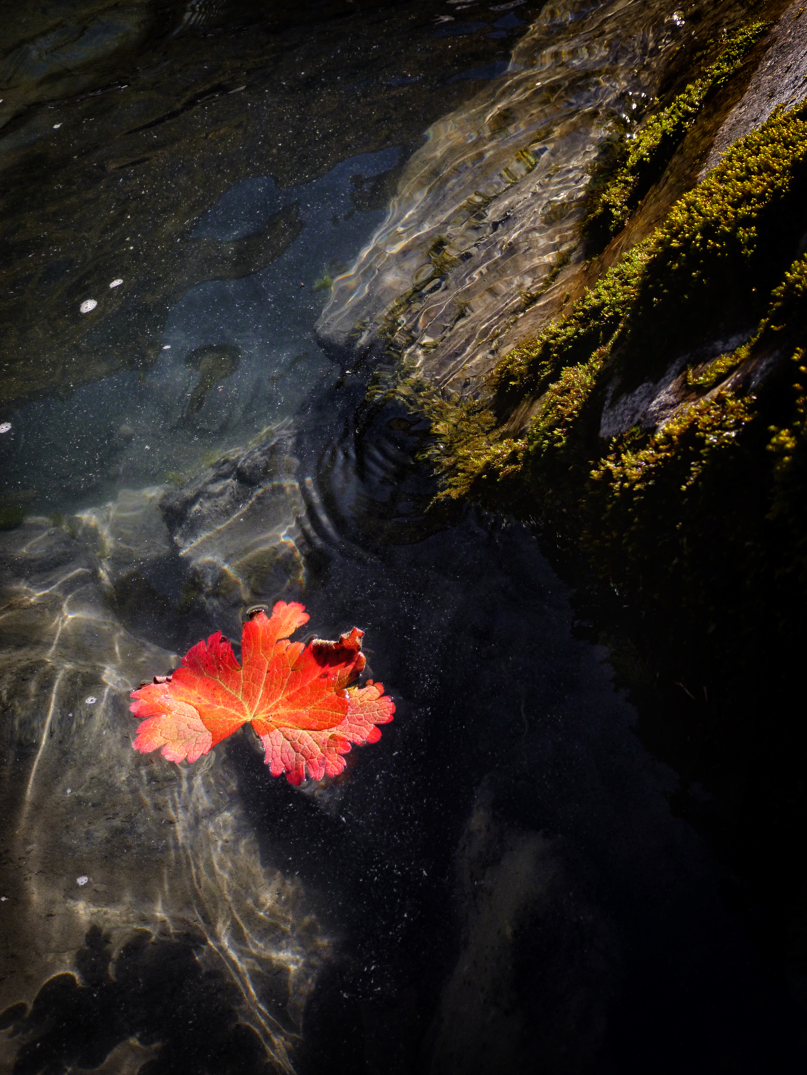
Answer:
[[[426,511],[313,331],[539,9],[6,15],[3,1070],[802,1070],[536,534]],[[128,691],[279,597],[367,632],[381,742],[299,789],[246,730],[136,754]]]

